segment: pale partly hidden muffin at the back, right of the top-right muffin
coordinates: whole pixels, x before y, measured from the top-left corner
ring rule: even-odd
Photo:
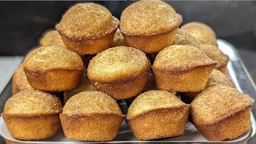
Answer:
[[[181,29],[191,34],[201,45],[217,46],[217,37],[214,30],[204,23],[188,22]]]

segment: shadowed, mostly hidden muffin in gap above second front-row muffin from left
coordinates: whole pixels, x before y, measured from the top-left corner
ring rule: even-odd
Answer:
[[[82,81],[80,82],[80,84],[76,88],[74,88],[73,90],[64,91],[64,94],[63,94],[63,96],[64,96],[64,98],[63,98],[64,103],[68,99],[70,99],[70,97],[72,97],[73,95],[78,94],[78,93],[80,93],[82,91],[96,91],[94,85],[92,85],[90,83],[90,80],[87,77],[86,71],[82,75]]]

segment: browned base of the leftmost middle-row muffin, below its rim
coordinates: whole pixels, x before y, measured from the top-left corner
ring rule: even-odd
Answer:
[[[35,90],[65,91],[72,90],[82,79],[84,69],[27,70],[26,78]]]

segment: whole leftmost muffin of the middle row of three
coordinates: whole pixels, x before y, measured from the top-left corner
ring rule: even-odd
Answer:
[[[84,66],[82,58],[62,46],[42,46],[26,55],[23,69],[36,90],[64,91],[78,86]]]

